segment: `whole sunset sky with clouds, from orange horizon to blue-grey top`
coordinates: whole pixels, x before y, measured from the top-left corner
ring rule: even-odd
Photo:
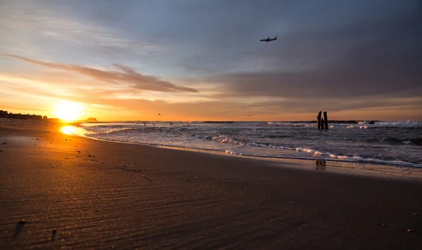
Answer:
[[[0,110],[422,121],[421,23],[418,0],[3,0]]]

